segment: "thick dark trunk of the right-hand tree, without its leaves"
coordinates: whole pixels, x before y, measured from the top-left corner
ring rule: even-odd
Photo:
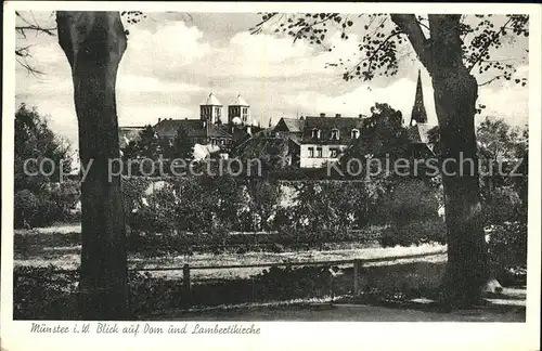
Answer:
[[[443,164],[448,265],[442,282],[446,299],[455,307],[479,300],[489,278],[488,250],[479,197],[474,118],[478,86],[463,64],[460,15],[430,15],[435,105]],[[470,159],[461,162],[462,159]]]

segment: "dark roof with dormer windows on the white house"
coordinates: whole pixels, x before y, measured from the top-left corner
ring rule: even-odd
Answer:
[[[371,117],[311,117],[305,118],[305,126],[302,132],[302,143],[314,144],[337,144],[349,143],[351,141],[351,131],[353,129],[361,130],[370,127],[373,122]],[[320,131],[320,138],[312,138],[312,130]],[[332,131],[339,131],[339,139],[332,140]]]

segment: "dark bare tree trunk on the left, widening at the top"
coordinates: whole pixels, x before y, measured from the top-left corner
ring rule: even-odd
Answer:
[[[81,184],[79,290],[86,320],[127,317],[127,262],[115,84],[127,38],[118,12],[56,13],[59,43],[72,67],[79,157],[90,171]],[[91,164],[92,162],[92,164]]]

